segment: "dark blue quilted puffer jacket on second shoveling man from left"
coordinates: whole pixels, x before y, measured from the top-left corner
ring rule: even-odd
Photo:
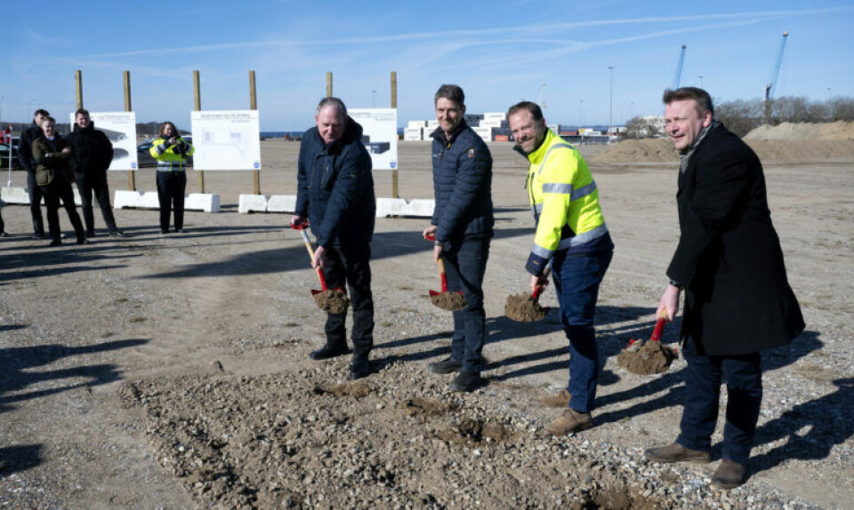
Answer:
[[[431,224],[436,240],[458,245],[466,236],[492,236],[492,155],[487,144],[463,120],[448,140],[433,131]]]

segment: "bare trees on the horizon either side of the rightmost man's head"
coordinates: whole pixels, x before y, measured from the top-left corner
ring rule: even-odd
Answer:
[[[854,121],[854,98],[835,97],[822,101],[787,96],[769,100],[767,105],[759,98],[731,100],[716,103],[714,117],[738,136],[745,136],[762,124],[776,126],[783,123],[852,122]],[[664,124],[650,122],[649,118],[636,116],[625,125],[630,138],[666,135]]]

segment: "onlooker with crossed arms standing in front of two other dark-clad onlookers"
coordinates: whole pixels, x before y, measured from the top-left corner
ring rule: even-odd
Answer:
[[[62,138],[55,129],[56,121],[53,117],[45,118],[42,122],[42,136],[33,142],[32,148],[33,161],[36,162],[36,184],[41,187],[47,205],[47,227],[52,238],[49,246],[62,245],[60,200],[74,227],[77,244],[88,244],[71,187],[71,167],[68,165],[71,147],[68,140]]]

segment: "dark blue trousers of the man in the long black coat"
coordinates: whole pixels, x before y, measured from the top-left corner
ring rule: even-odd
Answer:
[[[721,380],[727,381],[727,421],[723,426],[723,458],[747,464],[762,401],[759,353],[737,356],[698,355],[693,339],[685,342],[685,408],[676,442],[691,450],[712,448],[718,421]]]

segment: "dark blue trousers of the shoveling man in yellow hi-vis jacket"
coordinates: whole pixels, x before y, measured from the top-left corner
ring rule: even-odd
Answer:
[[[613,251],[567,255],[559,251],[552,259],[552,281],[560,302],[560,321],[569,339],[569,408],[590,412],[599,382],[599,347],[593,318],[599,285]]]

